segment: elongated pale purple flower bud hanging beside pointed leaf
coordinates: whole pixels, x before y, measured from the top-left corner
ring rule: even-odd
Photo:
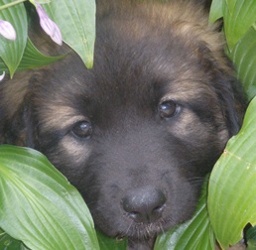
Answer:
[[[58,45],[63,44],[62,33],[55,22],[53,22],[43,7],[35,1],[36,10],[39,15],[40,25],[42,29],[52,38]]]

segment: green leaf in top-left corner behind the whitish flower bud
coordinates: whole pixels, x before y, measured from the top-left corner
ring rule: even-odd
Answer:
[[[11,1],[0,0],[0,6],[9,2]],[[9,41],[0,36],[0,58],[8,66],[11,76],[13,76],[21,62],[28,36],[27,15],[24,5],[21,3],[1,10],[0,19],[10,22],[16,31],[17,38],[15,41]],[[3,68],[0,68],[0,73],[2,71]]]

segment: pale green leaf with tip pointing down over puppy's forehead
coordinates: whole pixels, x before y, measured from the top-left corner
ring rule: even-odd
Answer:
[[[90,68],[93,64],[95,40],[95,1],[58,0],[44,5],[49,16],[58,24],[64,42]]]

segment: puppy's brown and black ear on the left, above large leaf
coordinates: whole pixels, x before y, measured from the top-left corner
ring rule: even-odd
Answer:
[[[34,71],[19,72],[0,86],[0,143],[34,148],[32,85]]]

